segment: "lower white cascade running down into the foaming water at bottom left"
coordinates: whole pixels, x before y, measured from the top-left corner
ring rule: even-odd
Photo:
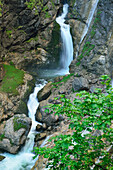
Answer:
[[[37,93],[44,87],[46,82],[36,85],[34,92],[30,95],[27,106],[28,114],[32,119],[31,130],[28,134],[28,139],[26,140],[25,146],[21,151],[16,154],[4,153],[6,158],[0,162],[0,169],[2,170],[30,170],[36,162],[36,159],[33,160],[34,154],[31,152],[34,146],[35,134],[38,133],[35,131],[36,125],[39,124],[35,121],[35,113],[38,108],[39,102],[37,100]]]

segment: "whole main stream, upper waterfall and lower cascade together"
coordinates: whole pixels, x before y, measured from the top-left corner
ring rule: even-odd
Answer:
[[[23,1],[21,1],[23,3]],[[51,71],[50,75],[65,75],[69,74],[69,65],[73,60],[73,43],[72,37],[70,34],[70,26],[65,24],[65,17],[68,13],[68,4],[63,6],[63,13],[61,16],[56,18],[57,23],[61,27],[61,38],[62,38],[62,53],[61,53],[61,60],[60,60],[60,69]],[[35,134],[38,133],[35,131],[36,125],[38,122],[35,121],[35,113],[38,108],[38,99],[37,93],[44,87],[46,84],[43,81],[41,84],[36,84],[34,88],[34,92],[29,96],[29,100],[27,103],[28,110],[29,110],[29,117],[32,119],[32,127],[28,134],[28,138],[26,140],[25,146],[21,149],[21,151],[16,154],[9,154],[4,153],[6,158],[0,163],[0,170],[30,170],[33,165],[35,164],[36,160],[33,160],[34,154],[31,152],[34,146],[34,138]],[[47,140],[47,139],[46,139]],[[43,146],[46,142],[43,142],[41,146]]]

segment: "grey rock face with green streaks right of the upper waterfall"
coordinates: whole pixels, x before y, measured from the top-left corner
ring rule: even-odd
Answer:
[[[77,1],[78,2],[78,1]],[[82,1],[80,1],[82,3]],[[80,3],[79,2],[79,3]],[[90,3],[93,3],[93,1]],[[82,3],[83,5],[83,3]],[[87,5],[83,8],[85,10]],[[81,8],[80,8],[81,9]],[[75,49],[79,45],[79,52],[77,58],[72,62],[70,70],[76,74],[83,74],[84,76],[99,77],[102,74],[109,74],[111,76],[113,70],[113,1],[100,0],[96,11],[94,13],[91,26],[89,27],[87,35],[80,43],[83,32],[80,21],[75,22],[74,43]],[[84,15],[83,13],[80,13]],[[83,17],[82,17],[83,18]],[[87,21],[87,20],[86,20]],[[73,24],[73,22],[72,22]],[[78,30],[78,31],[77,31]]]

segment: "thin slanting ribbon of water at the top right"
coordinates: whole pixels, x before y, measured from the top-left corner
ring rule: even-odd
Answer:
[[[86,36],[86,34],[87,34],[87,32],[88,32],[88,29],[89,29],[90,24],[91,24],[91,21],[92,21],[92,19],[93,19],[93,15],[94,15],[95,10],[96,10],[96,8],[97,8],[98,2],[99,2],[99,0],[94,0],[94,1],[93,1],[92,8],[91,8],[91,10],[90,10],[88,19],[87,19],[87,21],[86,21],[87,24],[85,25],[85,28],[84,28],[84,30],[83,30],[83,34],[82,34],[82,37],[81,37],[81,40],[80,40],[80,44],[82,43],[82,41],[84,40],[84,38],[85,38],[85,36]]]

